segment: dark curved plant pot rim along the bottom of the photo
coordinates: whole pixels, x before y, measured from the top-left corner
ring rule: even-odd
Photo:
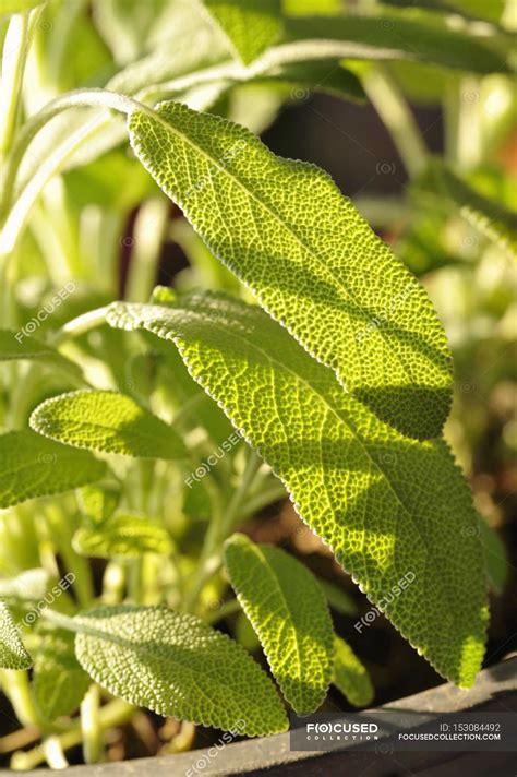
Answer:
[[[460,690],[450,683],[407,696],[378,707],[387,710],[417,710],[428,720],[443,713],[517,712],[517,657],[480,672],[477,683]],[[368,710],[361,713],[368,716]],[[395,777],[418,774],[422,777],[453,777],[462,772],[471,777],[506,777],[515,774],[515,753],[504,752],[360,752],[344,745],[333,752],[289,750],[289,733],[227,744],[223,749],[195,750],[178,755],[140,758],[95,766],[73,766],[60,772],[69,777],[223,777],[264,775],[264,777],[326,777],[346,774],[368,777]],[[1,775],[12,775],[3,769]],[[31,775],[48,774],[38,769]],[[53,774],[53,773],[52,773]]]

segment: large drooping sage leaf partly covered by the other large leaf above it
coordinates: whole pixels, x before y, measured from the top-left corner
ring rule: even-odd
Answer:
[[[371,601],[444,677],[473,681],[484,562],[468,486],[443,440],[418,442],[376,419],[258,308],[193,296],[178,308],[116,303],[108,321],[173,340]]]

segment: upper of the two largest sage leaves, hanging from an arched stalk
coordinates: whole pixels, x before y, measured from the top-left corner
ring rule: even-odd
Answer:
[[[443,328],[417,279],[323,170],[248,130],[167,103],[134,111],[133,147],[212,252],[347,390],[418,438],[450,403]]]

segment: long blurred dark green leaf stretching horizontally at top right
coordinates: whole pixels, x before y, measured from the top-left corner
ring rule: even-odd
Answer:
[[[320,43],[320,57],[398,59],[429,62],[476,73],[509,72],[506,58],[485,38],[445,24],[410,19],[404,12],[286,21],[286,36],[309,51]],[[299,46],[300,59],[303,47]]]

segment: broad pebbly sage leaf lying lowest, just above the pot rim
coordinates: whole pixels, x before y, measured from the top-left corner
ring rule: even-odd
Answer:
[[[285,731],[276,689],[243,648],[194,615],[165,607],[104,607],[74,618],[80,664],[116,696],[250,737]]]

